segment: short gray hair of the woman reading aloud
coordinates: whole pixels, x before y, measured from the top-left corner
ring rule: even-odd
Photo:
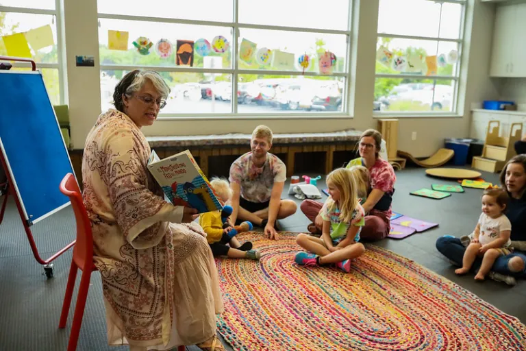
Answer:
[[[155,71],[140,71],[136,69],[127,73],[121,82],[115,86],[115,91],[113,93],[113,104],[115,108],[121,112],[124,112],[124,102],[123,95],[131,96],[133,93],[139,91],[142,86],[145,85],[145,82],[149,80],[155,89],[160,93],[163,99],[168,97],[170,93],[170,87],[164,79]]]

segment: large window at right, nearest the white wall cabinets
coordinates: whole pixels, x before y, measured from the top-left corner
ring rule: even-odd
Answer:
[[[464,0],[380,0],[373,110],[456,112],[465,8]]]

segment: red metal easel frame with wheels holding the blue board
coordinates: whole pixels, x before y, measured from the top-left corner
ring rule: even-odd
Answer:
[[[32,71],[36,71],[36,63],[34,62],[34,60],[30,60],[30,59],[27,59],[27,58],[10,58],[10,57],[7,57],[7,56],[0,56],[0,60],[31,62],[31,64],[32,64]],[[3,170],[5,171],[6,169],[8,169],[7,163],[5,162],[5,158],[3,157],[3,154],[1,152],[0,152],[0,161],[1,161],[1,164],[2,164],[2,167],[3,167]],[[23,223],[23,226],[24,226],[25,234],[27,235],[27,240],[29,240],[29,245],[31,245],[31,250],[33,252],[33,256],[35,257],[36,261],[38,263],[40,263],[40,265],[44,265],[44,271],[45,271],[45,274],[46,274],[47,278],[51,278],[51,277],[53,277],[53,264],[51,262],[53,260],[55,260],[55,258],[57,258],[58,256],[64,254],[64,252],[69,250],[70,247],[75,245],[75,240],[72,241],[71,243],[69,243],[68,245],[66,245],[66,247],[64,247],[62,250],[58,251],[53,256],[49,257],[47,260],[42,259],[40,257],[40,254],[38,254],[38,249],[36,248],[36,243],[35,243],[35,240],[34,240],[34,237],[33,237],[33,233],[31,231],[31,228],[29,228],[32,225],[32,223],[25,219],[24,212],[22,210],[22,206],[20,204],[20,200],[18,199],[18,196],[13,196],[14,194],[16,194],[16,191],[14,189],[14,185],[13,185],[13,182],[12,182],[12,179],[11,179],[10,172],[5,171],[5,177],[7,178],[7,180],[4,183],[0,184],[0,186],[3,186],[4,189],[5,189],[3,203],[2,203],[2,208],[0,209],[0,224],[3,221],[3,215],[5,213],[5,207],[8,204],[8,196],[11,194],[13,199],[14,199],[14,203],[16,204],[16,208],[18,209],[18,213],[20,214],[20,218],[22,219],[22,223]]]

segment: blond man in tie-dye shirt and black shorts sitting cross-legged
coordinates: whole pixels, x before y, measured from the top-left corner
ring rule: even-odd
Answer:
[[[251,152],[242,155],[230,167],[232,188],[231,221],[251,221],[264,228],[271,239],[277,239],[276,220],[293,215],[296,203],[281,199],[285,180],[285,164],[268,152],[273,134],[266,125],[259,125],[252,132]]]

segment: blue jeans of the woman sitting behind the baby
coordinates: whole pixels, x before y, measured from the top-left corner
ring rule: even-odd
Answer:
[[[462,245],[460,242],[460,239],[458,238],[452,238],[452,237],[440,237],[436,240],[436,250],[440,252],[440,254],[443,254],[447,258],[449,258],[451,261],[455,262],[457,265],[462,267],[462,258],[464,258],[464,252],[466,251],[466,247]],[[508,263],[510,262],[510,259],[514,258],[515,256],[521,257],[523,261],[526,263],[526,255],[521,252],[514,252],[512,254],[506,255],[506,256],[499,256],[495,263],[493,264],[493,267],[491,267],[492,271],[495,271],[500,274],[505,274],[506,276],[514,276],[516,278],[526,278],[526,265],[525,269],[523,271],[510,271],[510,268],[508,267]],[[471,267],[472,270],[477,270],[480,268],[480,264],[482,263],[482,259],[477,256],[475,258],[475,262],[473,263],[473,266]]]

